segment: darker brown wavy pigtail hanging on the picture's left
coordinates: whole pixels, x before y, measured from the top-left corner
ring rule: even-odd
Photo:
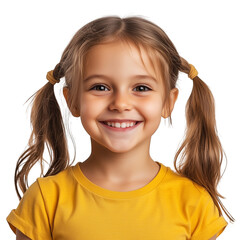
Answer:
[[[60,79],[63,76],[60,64],[55,67],[53,75],[56,79]],[[63,119],[54,95],[53,85],[47,82],[30,98],[33,96],[30,117],[32,133],[28,141],[29,147],[19,157],[14,176],[15,189],[19,200],[21,200],[21,196],[17,184],[19,184],[21,191],[25,193],[28,188],[29,171],[38,161],[40,161],[41,175],[43,175],[45,144],[50,155],[50,167],[44,177],[59,173],[69,164]],[[20,170],[21,165],[23,166]]]

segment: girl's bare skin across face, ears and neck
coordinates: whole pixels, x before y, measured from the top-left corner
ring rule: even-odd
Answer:
[[[149,154],[150,141],[157,130],[161,117],[170,112],[162,104],[163,87],[147,79],[132,79],[133,75],[155,73],[142,49],[144,67],[137,49],[123,42],[112,42],[91,48],[87,55],[84,79],[93,74],[103,74],[108,79],[82,80],[79,111],[70,109],[73,116],[81,117],[82,125],[91,138],[91,155],[83,163],[83,173],[97,185],[108,185],[113,190],[129,190],[146,184],[159,171],[159,166]],[[92,88],[94,85],[103,85]],[[151,90],[139,86],[147,86]],[[105,87],[104,87],[105,86]],[[91,90],[92,89],[92,90]],[[68,103],[68,89],[63,89]],[[178,89],[170,93],[173,110]],[[143,121],[128,133],[107,131],[99,122],[107,119],[133,119]],[[134,186],[135,185],[135,186]]]

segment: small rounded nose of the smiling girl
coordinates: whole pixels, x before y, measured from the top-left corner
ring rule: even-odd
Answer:
[[[130,97],[127,93],[116,92],[109,104],[109,110],[116,110],[118,112],[129,111],[132,109],[132,104],[130,103]]]

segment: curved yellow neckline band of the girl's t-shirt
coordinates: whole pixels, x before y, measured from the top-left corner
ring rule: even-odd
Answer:
[[[80,163],[78,162],[75,166],[71,169],[73,171],[73,175],[78,181],[80,185],[86,188],[88,191],[93,192],[99,196],[112,198],[112,199],[130,199],[134,197],[139,197],[142,195],[147,194],[148,192],[152,191],[157,185],[162,181],[164,176],[167,173],[167,167],[165,167],[162,163],[155,161],[159,166],[160,170],[155,175],[155,177],[145,186],[131,191],[126,192],[119,192],[119,191],[112,191],[103,187],[96,185],[95,183],[91,182],[82,172],[80,168]]]

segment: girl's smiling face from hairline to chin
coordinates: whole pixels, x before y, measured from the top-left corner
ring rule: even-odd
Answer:
[[[163,87],[147,53],[143,49],[142,53],[147,69],[137,49],[120,41],[94,46],[86,58],[80,91],[81,121],[92,141],[112,152],[149,146],[164,112]],[[112,119],[140,123],[124,130],[103,123]]]

